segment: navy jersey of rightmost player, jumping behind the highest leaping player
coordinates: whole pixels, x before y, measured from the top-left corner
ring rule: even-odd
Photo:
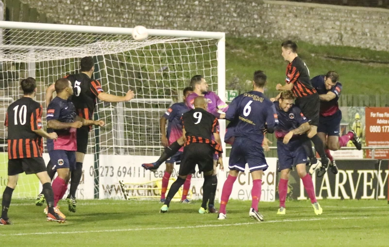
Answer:
[[[338,99],[342,91],[342,84],[337,82],[330,91],[327,91],[324,83],[324,75],[316,76],[311,79],[312,86],[319,94],[335,93],[335,98],[330,101],[320,102],[320,115],[327,117],[334,115],[339,110]]]

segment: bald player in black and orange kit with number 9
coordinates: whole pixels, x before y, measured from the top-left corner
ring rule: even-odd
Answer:
[[[213,154],[221,153],[220,143],[211,139],[219,139],[218,119],[207,112],[208,100],[203,96],[194,99],[194,109],[184,113],[182,116],[183,134],[186,137],[184,153],[181,160],[180,170],[177,180],[170,186],[165,204],[161,207],[160,213],[166,213],[169,210],[170,201],[177,193],[178,189],[185,183],[186,176],[194,173],[196,164],[199,172],[203,172],[203,203],[199,209],[200,214],[209,213],[206,209],[207,202],[212,191],[215,190],[217,182],[213,176]],[[219,158],[221,160],[221,157]],[[221,161],[220,161],[221,162]]]

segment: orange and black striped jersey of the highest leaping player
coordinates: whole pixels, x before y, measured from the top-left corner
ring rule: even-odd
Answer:
[[[309,79],[309,70],[301,58],[296,57],[287,67],[285,81],[293,83],[292,92],[297,98],[302,98],[316,93]]]

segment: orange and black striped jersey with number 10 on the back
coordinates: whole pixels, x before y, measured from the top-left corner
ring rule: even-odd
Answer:
[[[42,106],[22,97],[7,109],[8,159],[42,157],[43,139],[34,130],[42,128]]]

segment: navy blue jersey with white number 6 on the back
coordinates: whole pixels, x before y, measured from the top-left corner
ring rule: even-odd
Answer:
[[[236,126],[235,137],[245,137],[260,144],[263,142],[262,129],[265,124],[271,133],[278,124],[273,103],[257,91],[237,96],[229,105],[225,118]]]

